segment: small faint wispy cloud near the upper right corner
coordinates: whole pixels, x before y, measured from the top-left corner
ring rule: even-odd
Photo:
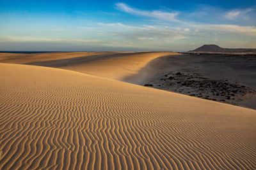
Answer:
[[[248,8],[245,10],[231,10],[225,13],[224,17],[227,18],[228,20],[236,20],[237,18],[246,19],[248,18],[247,13],[249,13],[250,11],[253,11],[253,9]]]

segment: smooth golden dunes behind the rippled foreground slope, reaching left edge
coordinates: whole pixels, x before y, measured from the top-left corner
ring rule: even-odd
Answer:
[[[175,52],[52,52],[0,53],[0,62],[60,67],[81,73],[123,80],[137,74],[148,62]]]

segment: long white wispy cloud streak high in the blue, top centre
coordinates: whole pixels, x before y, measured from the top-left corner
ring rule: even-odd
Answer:
[[[160,10],[155,10],[155,11],[143,11],[143,10],[138,10],[136,8],[132,8],[128,6],[125,3],[116,3],[115,4],[118,10],[125,11],[127,13],[131,13],[134,15],[140,15],[143,17],[151,17],[151,18],[157,18],[161,20],[168,20],[170,22],[180,22],[176,17],[179,14],[178,12],[164,12]]]

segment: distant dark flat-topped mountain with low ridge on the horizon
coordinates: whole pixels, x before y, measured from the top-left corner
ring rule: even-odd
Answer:
[[[256,49],[252,48],[222,48],[218,45],[203,45],[195,50],[189,52],[256,52]]]

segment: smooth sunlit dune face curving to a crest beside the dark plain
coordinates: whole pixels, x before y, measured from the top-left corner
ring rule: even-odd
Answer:
[[[61,67],[72,71],[92,74],[104,78],[111,78],[115,80],[123,80],[127,76],[137,74],[141,68],[145,67],[148,62],[158,57],[166,55],[177,55],[174,52],[135,52],[128,53],[129,55],[109,55],[99,60],[92,60],[89,62],[76,62],[68,64],[68,66]]]

